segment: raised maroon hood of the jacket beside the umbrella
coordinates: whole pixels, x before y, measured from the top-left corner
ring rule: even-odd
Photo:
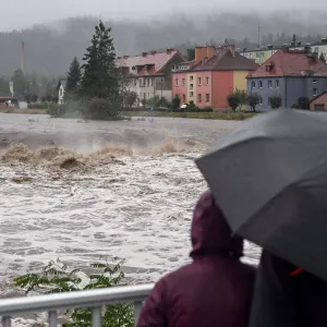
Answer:
[[[191,229],[191,257],[220,254],[243,256],[243,239],[233,235],[213,194],[205,192],[197,202]]]

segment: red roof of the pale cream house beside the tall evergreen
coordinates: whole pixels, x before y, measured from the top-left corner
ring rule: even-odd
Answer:
[[[129,75],[131,76],[162,75],[161,70],[175,56],[180,56],[184,60],[179,51],[170,50],[167,52],[147,52],[144,56],[121,57],[117,59],[117,65],[129,68]],[[137,66],[140,68],[138,73],[136,72]]]

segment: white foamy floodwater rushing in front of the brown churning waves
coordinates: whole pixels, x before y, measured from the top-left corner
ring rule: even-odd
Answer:
[[[189,261],[192,211],[206,183],[197,154],[121,158],[92,174],[27,165],[0,166],[3,278],[60,257],[87,266],[125,259],[130,276],[155,281]],[[20,177],[28,182],[13,182]],[[247,261],[258,250],[247,244]]]

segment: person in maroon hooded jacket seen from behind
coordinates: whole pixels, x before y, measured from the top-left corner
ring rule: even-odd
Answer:
[[[240,262],[243,240],[210,192],[196,204],[191,235],[193,262],[156,283],[137,327],[247,327],[255,268]]]

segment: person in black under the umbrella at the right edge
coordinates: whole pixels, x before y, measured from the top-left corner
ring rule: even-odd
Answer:
[[[327,326],[327,282],[263,251],[249,326]]]

